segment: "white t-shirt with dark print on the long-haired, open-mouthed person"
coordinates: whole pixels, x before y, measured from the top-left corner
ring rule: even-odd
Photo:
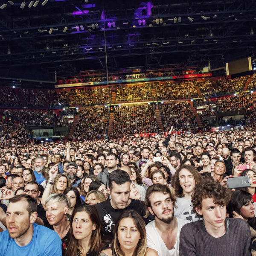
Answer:
[[[192,203],[189,199],[176,198],[176,207],[174,207],[174,215],[177,218],[181,218],[187,221],[199,221],[202,218],[199,218],[195,212],[193,212]]]

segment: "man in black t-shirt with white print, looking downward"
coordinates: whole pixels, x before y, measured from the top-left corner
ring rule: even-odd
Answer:
[[[145,203],[130,199],[130,177],[122,170],[115,170],[109,175],[109,188],[111,199],[96,204],[95,207],[103,223],[105,239],[113,238],[113,228],[119,215],[128,209],[136,210],[141,216],[145,215]],[[151,219],[145,219],[146,224]]]

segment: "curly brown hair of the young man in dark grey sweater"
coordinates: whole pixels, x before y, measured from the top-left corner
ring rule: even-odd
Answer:
[[[221,183],[216,181],[205,181],[195,187],[195,192],[192,195],[193,211],[202,209],[202,201],[204,198],[212,198],[214,204],[227,205],[230,201],[230,190],[221,186]],[[198,217],[202,215],[196,213]]]

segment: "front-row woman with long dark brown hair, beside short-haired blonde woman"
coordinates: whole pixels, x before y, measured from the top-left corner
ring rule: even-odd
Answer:
[[[102,247],[102,224],[93,205],[74,209],[70,221],[67,256],[99,256]]]

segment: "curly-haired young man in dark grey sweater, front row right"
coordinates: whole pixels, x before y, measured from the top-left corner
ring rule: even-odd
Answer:
[[[191,222],[180,231],[180,256],[249,256],[250,228],[242,219],[226,218],[230,191],[207,181],[196,186],[193,210],[204,220]]]

